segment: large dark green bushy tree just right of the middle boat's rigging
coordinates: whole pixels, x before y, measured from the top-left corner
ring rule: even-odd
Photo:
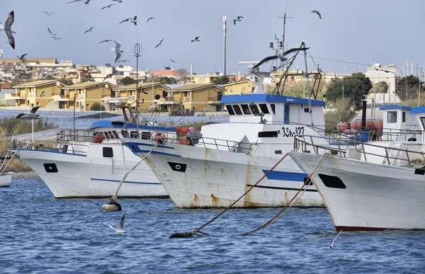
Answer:
[[[344,85],[344,98],[351,98],[356,105],[360,105],[364,96],[372,88],[372,82],[365,74],[358,72],[344,79],[332,80],[329,84],[326,97],[330,101],[342,98]]]

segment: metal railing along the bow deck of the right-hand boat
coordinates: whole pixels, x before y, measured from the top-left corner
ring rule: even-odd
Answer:
[[[421,145],[417,142],[384,141],[377,144],[312,135],[295,135],[294,138],[295,152],[314,152],[314,154],[330,152],[335,156],[373,161],[390,166],[425,166],[424,149],[409,150],[410,144]],[[404,149],[404,147],[407,148]]]

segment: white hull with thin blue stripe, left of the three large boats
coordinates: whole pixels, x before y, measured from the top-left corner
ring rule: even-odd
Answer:
[[[120,144],[89,144],[87,156],[71,153],[19,149],[21,161],[33,169],[56,198],[108,198],[115,194],[125,175]],[[113,147],[114,157],[89,156],[92,149]],[[125,148],[126,170],[130,171],[140,158]],[[95,151],[96,152],[96,151]],[[47,172],[44,164],[55,164],[57,172]],[[120,188],[118,197],[148,198],[168,196],[149,166],[142,162],[132,171]]]

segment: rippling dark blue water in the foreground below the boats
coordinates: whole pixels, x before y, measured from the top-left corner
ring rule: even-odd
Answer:
[[[203,229],[210,236],[168,239],[194,230],[220,210],[176,209],[169,199],[55,199],[39,179],[0,188],[0,273],[417,273],[424,271],[425,232],[336,232],[325,208],[293,208],[254,229],[276,208],[229,210]]]

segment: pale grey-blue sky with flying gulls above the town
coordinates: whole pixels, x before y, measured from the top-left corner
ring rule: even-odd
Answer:
[[[162,69],[171,66],[193,72],[222,72],[222,16],[227,16],[227,74],[246,72],[239,61],[259,61],[273,55],[268,47],[275,34],[281,37],[285,0],[181,0],[142,1],[91,0],[89,4],[70,0],[1,0],[0,21],[15,11],[16,50],[6,44],[4,32],[0,48],[4,57],[56,57],[71,59],[74,64],[113,64],[115,43],[123,45],[122,59],[130,59],[132,45],[143,47],[139,66]],[[114,4],[111,8],[103,6]],[[322,19],[311,13],[317,10]],[[43,11],[54,11],[47,16]],[[413,60],[425,67],[425,1],[423,0],[288,0],[285,45],[298,47],[305,42],[314,62],[325,71],[366,72],[370,64],[396,64]],[[125,18],[137,15],[137,26]],[[244,16],[237,25],[232,19]],[[148,23],[147,18],[154,17]],[[91,33],[84,31],[94,26]],[[47,27],[63,40],[53,40]],[[200,42],[191,42],[200,36]],[[154,49],[160,40],[162,45]],[[322,59],[319,59],[322,58]],[[174,59],[176,63],[171,63]],[[329,61],[325,59],[336,60]],[[358,64],[351,64],[358,63]],[[309,59],[309,68],[312,67]],[[298,58],[295,69],[304,68]]]

